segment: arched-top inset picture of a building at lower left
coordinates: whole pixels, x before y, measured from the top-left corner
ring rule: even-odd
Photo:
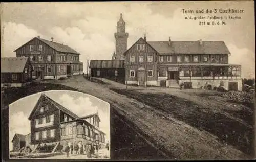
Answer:
[[[109,103],[81,92],[50,90],[9,107],[10,158],[110,158]]]

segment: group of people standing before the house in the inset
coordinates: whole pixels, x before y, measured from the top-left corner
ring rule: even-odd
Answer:
[[[92,158],[92,155],[98,150],[102,149],[101,145],[93,145],[92,143],[87,143],[85,145],[82,145],[82,143],[75,144],[74,146],[72,144],[69,145],[67,143],[66,146],[61,147],[61,151],[65,152],[67,155],[67,158],[69,157],[69,154],[74,155],[87,155],[87,158]],[[106,145],[106,149],[109,150],[109,144]]]

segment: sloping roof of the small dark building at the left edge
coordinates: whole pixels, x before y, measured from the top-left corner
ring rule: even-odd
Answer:
[[[27,57],[1,57],[1,73],[22,73]]]

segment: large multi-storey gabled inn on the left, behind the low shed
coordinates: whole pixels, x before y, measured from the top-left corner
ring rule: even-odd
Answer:
[[[80,54],[68,45],[34,37],[16,49],[16,57],[29,58],[33,78],[59,79],[83,73]]]

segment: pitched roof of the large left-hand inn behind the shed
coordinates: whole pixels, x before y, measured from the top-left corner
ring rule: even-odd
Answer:
[[[38,38],[38,37],[34,37],[33,39],[38,39],[38,40],[46,43],[47,45],[49,45],[51,48],[53,48],[54,50],[56,50],[58,52],[79,54],[77,51],[70,48],[68,45],[64,45],[64,44],[61,44],[61,43],[57,43],[57,42],[54,42],[54,41],[50,41],[50,40],[46,40],[46,39],[42,39],[42,38]],[[33,40],[33,39],[31,39],[31,40]],[[30,41],[28,41],[28,42],[30,42]],[[25,43],[25,44],[27,44],[27,43]],[[23,44],[23,45],[25,45],[25,44]],[[23,45],[20,46],[19,48],[23,47]],[[17,48],[15,51],[17,51],[19,48]]]

